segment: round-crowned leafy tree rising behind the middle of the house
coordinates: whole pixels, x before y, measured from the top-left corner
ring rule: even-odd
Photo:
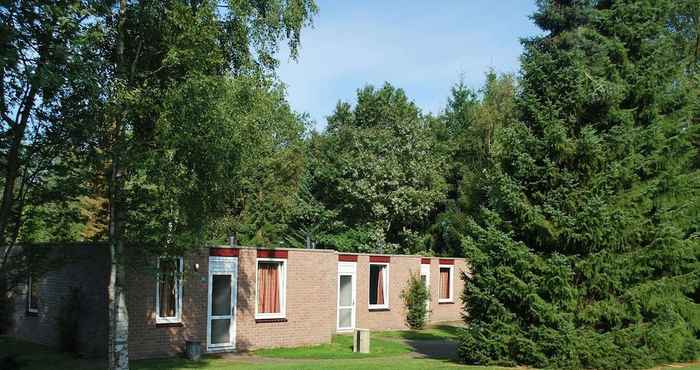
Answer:
[[[346,227],[331,246],[424,249],[418,231],[445,198],[441,154],[429,120],[401,89],[368,86],[357,92],[354,109],[339,103],[313,169],[314,194]]]

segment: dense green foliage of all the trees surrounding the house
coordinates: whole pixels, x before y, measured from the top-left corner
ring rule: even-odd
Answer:
[[[519,76],[457,83],[437,115],[365,86],[312,132],[275,75],[311,0],[3,3],[0,324],[42,255],[17,242],[109,240],[123,263],[236,234],[467,257],[465,362],[696,358],[700,4],[538,6]]]

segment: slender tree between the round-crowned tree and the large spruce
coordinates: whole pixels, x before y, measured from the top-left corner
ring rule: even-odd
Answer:
[[[429,232],[435,253],[464,253],[461,233],[468,217],[478,217],[487,185],[484,171],[503,152],[503,132],[516,122],[515,78],[489,71],[478,92],[459,82],[452,88],[445,112],[434,122],[437,142],[448,156],[450,191]]]

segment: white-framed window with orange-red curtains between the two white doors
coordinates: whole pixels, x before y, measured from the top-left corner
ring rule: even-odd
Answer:
[[[281,319],[285,317],[286,267],[285,260],[258,259],[256,319]]]

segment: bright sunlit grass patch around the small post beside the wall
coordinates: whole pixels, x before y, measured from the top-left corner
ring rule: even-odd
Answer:
[[[371,353],[354,353],[352,351],[351,335],[336,335],[331,343],[309,347],[296,348],[272,348],[255,351],[255,354],[262,357],[273,358],[296,358],[296,359],[347,359],[347,358],[367,358],[367,357],[387,357],[396,356],[411,352],[405,344],[376,338],[370,335]]]

